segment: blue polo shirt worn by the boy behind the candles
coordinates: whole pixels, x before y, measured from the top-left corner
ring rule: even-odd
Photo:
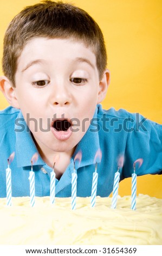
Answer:
[[[18,120],[18,122],[16,121]],[[22,129],[24,127],[24,129]],[[162,126],[147,120],[142,115],[131,114],[114,108],[108,111],[96,106],[92,123],[85,136],[75,149],[70,164],[56,180],[56,197],[71,196],[71,181],[74,157],[80,150],[82,160],[77,166],[77,196],[90,196],[92,178],[95,170],[94,157],[100,148],[102,159],[98,159],[97,195],[107,197],[113,190],[114,174],[118,168],[118,159],[124,156],[124,166],[120,168],[120,181],[133,173],[133,163],[142,158],[143,163],[137,167],[137,175],[161,174],[162,170]],[[0,197],[6,197],[7,159],[15,152],[10,168],[12,172],[12,196],[30,195],[29,171],[31,157],[37,148],[31,133],[19,109],[8,107],[0,111]],[[50,172],[52,169],[39,155],[34,164],[36,196],[49,196]]]

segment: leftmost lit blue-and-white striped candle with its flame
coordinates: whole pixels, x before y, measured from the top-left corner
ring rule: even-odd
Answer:
[[[8,158],[8,168],[6,169],[6,192],[7,192],[7,205],[11,206],[12,187],[11,187],[11,169],[10,164],[14,160],[15,152]]]

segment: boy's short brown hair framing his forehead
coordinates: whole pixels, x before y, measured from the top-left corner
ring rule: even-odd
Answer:
[[[46,38],[74,38],[92,47],[96,56],[99,77],[106,69],[105,42],[98,24],[86,11],[69,3],[44,1],[24,8],[10,22],[4,36],[2,67],[4,75],[15,87],[17,59],[27,42]]]

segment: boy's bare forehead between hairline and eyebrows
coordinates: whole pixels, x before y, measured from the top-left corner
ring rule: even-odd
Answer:
[[[87,62],[96,68],[96,57],[92,47],[74,39],[34,38],[24,46],[18,58],[18,69],[37,59],[48,62]]]

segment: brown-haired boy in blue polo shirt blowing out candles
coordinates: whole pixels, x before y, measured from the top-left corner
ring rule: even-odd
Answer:
[[[11,163],[12,196],[29,196],[34,163],[36,196],[49,196],[55,162],[56,196],[71,196],[75,156],[77,196],[91,194],[98,162],[101,197],[113,190],[119,159],[120,180],[161,174],[162,128],[124,109],[99,104],[109,84],[102,32],[85,11],[61,2],[27,7],[11,21],[4,38],[1,90],[11,107],[0,114],[0,196],[6,196],[5,168]],[[101,157],[96,153],[102,152]],[[121,158],[120,158],[121,157]]]

